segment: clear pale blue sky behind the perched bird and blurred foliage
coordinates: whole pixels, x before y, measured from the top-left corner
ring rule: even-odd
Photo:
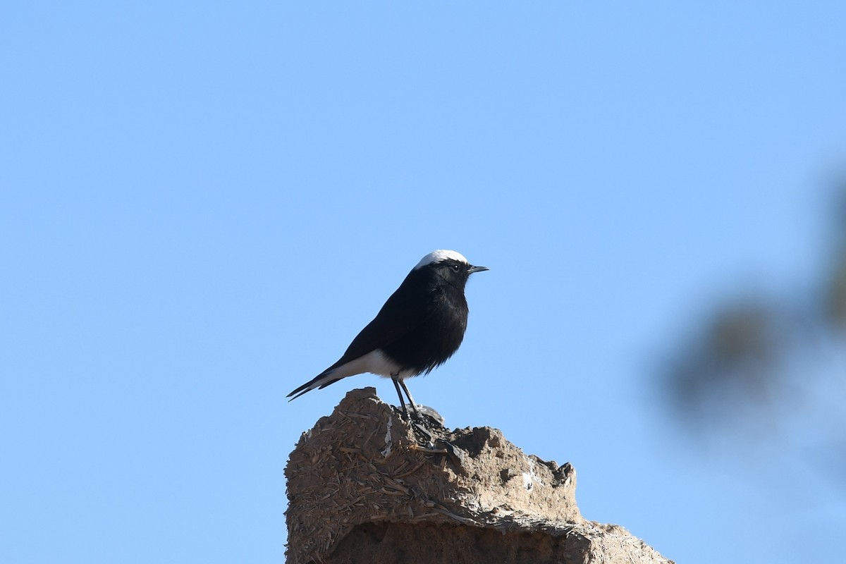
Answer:
[[[300,432],[394,392],[284,396],[442,248],[491,271],[416,400],[573,463],[585,517],[674,560],[836,559],[842,488],[690,441],[654,372],[712,300],[821,264],[843,25],[838,2],[4,5],[0,561],[282,561]]]

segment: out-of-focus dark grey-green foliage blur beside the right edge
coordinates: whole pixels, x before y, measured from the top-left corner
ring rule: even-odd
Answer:
[[[721,435],[746,446],[744,431],[795,441],[795,428],[802,428],[812,440],[793,446],[803,456],[815,451],[811,457],[825,458],[827,473],[835,470],[843,478],[846,180],[835,201],[831,236],[823,243],[827,266],[816,274],[816,290],[736,296],[712,306],[692,335],[675,344],[662,389],[694,434]],[[831,357],[839,360],[828,363]]]

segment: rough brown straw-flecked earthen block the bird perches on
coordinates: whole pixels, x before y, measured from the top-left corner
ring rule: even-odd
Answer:
[[[668,562],[581,517],[569,463],[490,427],[409,424],[371,387],[300,437],[285,475],[290,564]]]

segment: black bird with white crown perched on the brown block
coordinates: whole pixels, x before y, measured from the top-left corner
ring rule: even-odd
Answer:
[[[406,419],[403,392],[420,417],[405,379],[428,374],[459,349],[469,312],[464,287],[471,274],[486,270],[454,250],[439,249],[424,256],[338,362],[289,393],[288,402],[347,376],[369,372],[393,381]]]

